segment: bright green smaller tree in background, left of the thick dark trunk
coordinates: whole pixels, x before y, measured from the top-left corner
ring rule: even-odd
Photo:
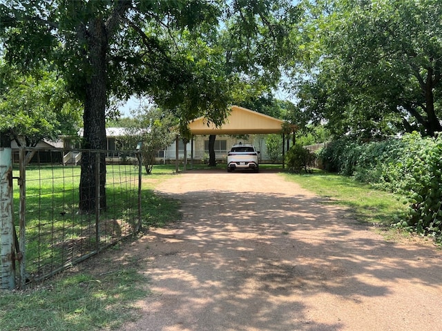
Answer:
[[[4,146],[35,147],[43,139],[73,135],[81,127],[81,108],[54,72],[40,70],[34,77],[0,61],[0,132]],[[32,153],[28,159],[32,157]]]

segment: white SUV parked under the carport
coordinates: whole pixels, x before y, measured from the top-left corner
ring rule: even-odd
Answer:
[[[227,171],[236,169],[252,169],[259,171],[258,152],[253,145],[242,144],[233,145],[227,154]]]

